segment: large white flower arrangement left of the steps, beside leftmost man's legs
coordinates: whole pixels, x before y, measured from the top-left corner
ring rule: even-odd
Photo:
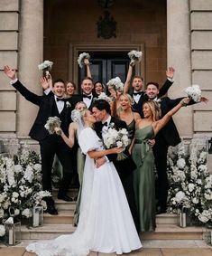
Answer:
[[[27,152],[27,153],[26,153]],[[0,156],[0,213],[1,218],[14,216],[29,218],[35,204],[45,205],[41,191],[41,157],[28,147],[18,150],[14,157]]]

